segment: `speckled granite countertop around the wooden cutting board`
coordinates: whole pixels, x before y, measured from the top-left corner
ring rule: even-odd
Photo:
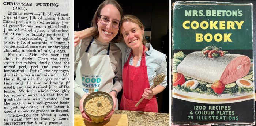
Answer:
[[[75,107],[75,114],[81,114]],[[129,126],[169,126],[169,113],[116,110],[114,114],[127,114]]]

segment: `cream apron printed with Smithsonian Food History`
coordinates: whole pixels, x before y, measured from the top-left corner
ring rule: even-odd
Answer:
[[[75,81],[80,85],[85,93],[90,94],[96,91],[109,93],[114,86],[113,78],[115,77],[109,58],[110,43],[108,46],[108,53],[106,55],[93,56],[87,53],[93,40],[94,38],[91,40],[85,53],[78,62]],[[75,94],[76,107],[79,106],[79,101],[81,99],[77,97],[78,95]]]

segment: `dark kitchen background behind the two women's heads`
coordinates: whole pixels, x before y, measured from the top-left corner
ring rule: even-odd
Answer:
[[[90,27],[90,22],[99,4],[103,0],[81,3],[75,1],[75,31]],[[137,16],[151,32],[151,44],[154,49],[162,50],[165,35],[169,31],[169,0],[117,0],[124,14]]]

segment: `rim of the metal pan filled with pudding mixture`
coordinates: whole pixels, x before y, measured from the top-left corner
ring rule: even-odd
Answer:
[[[97,94],[103,95],[103,96],[104,96],[104,95],[105,95],[105,96],[108,96],[108,97],[111,99],[110,102],[111,102],[111,104],[112,104],[112,107],[111,107],[110,111],[107,112],[107,113],[104,114],[104,115],[99,115],[99,116],[91,115],[91,114],[89,114],[89,113],[86,112],[86,109],[85,109],[85,107],[84,107],[85,104],[86,104],[86,102],[87,102],[88,100],[90,100],[90,99],[88,99],[88,98],[90,98],[90,96],[97,95]],[[92,97],[92,98],[94,98],[94,97]],[[108,99],[109,99],[109,98],[108,98]],[[101,117],[106,117],[106,115],[108,115],[108,114],[112,111],[113,105],[114,105],[113,98],[112,98],[112,96],[109,95],[109,93],[106,93],[106,92],[103,92],[103,91],[97,91],[97,92],[90,93],[89,95],[86,96],[86,98],[85,98],[84,101],[83,101],[83,110],[84,110],[84,113],[86,113],[86,115],[88,115],[90,118],[101,118]]]

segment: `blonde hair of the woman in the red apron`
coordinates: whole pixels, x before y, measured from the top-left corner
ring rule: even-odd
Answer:
[[[134,16],[134,15],[124,15],[124,18],[123,18],[123,20],[122,20],[122,26],[120,27],[120,30],[119,30],[119,33],[120,33],[120,35],[121,35],[121,37],[123,37],[123,34],[122,34],[122,30],[123,30],[123,24],[124,24],[124,22],[128,22],[128,21],[130,21],[130,22],[132,22],[132,23],[135,23],[135,24],[138,24],[138,26],[140,27],[140,29],[141,30],[144,30],[144,25],[140,22],[140,19],[139,18],[137,18],[136,16]],[[145,38],[145,35],[142,35],[143,36],[143,40],[142,40],[142,43],[143,43],[143,45],[146,45],[146,43],[147,43],[147,40],[146,40],[146,38]]]

